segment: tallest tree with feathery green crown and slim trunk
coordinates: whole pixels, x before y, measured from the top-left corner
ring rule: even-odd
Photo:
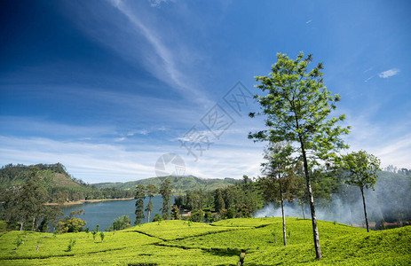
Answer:
[[[322,63],[308,70],[310,62],[312,55],[304,58],[303,52],[300,52],[295,60],[278,53],[277,62],[272,66],[273,72],[267,76],[256,77],[257,82],[260,82],[257,88],[265,95],[255,96],[261,105],[261,112],[249,113],[249,116],[265,115],[265,125],[269,129],[249,132],[249,138],[254,138],[255,141],[289,141],[296,144],[292,146],[304,163],[315,254],[320,259],[320,238],[312,197],[310,168],[316,160],[328,160],[337,150],[347,147],[340,136],[348,134],[349,128],[336,126],[338,121],[344,121],[344,114],[328,118],[329,113],[336,109],[336,102],[340,97],[331,95],[324,86]]]

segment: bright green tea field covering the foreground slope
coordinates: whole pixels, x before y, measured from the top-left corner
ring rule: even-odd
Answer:
[[[103,243],[85,232],[0,232],[0,265],[237,265],[241,249],[247,249],[245,265],[411,264],[410,226],[367,233],[320,221],[323,259],[316,261],[311,220],[287,218],[287,224],[288,246],[282,246],[281,218],[145,223],[105,232]],[[24,244],[16,249],[19,238]]]

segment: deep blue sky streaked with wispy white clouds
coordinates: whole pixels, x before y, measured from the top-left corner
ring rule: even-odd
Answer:
[[[248,91],[277,52],[304,51],[342,95],[351,150],[411,168],[409,13],[408,1],[2,1],[0,164],[124,182],[175,153],[186,175],[257,176]]]

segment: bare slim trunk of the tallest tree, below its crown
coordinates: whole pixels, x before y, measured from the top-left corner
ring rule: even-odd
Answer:
[[[314,198],[312,197],[310,175],[308,173],[307,156],[305,154],[303,138],[301,136],[299,138],[300,138],[301,152],[303,153],[304,175],[305,175],[305,181],[307,184],[308,199],[310,201],[310,209],[311,209],[311,217],[312,217],[312,236],[314,239],[315,256],[317,259],[320,260],[322,257],[321,248],[320,248],[320,236],[319,236],[319,231],[317,227],[317,217],[315,216]]]

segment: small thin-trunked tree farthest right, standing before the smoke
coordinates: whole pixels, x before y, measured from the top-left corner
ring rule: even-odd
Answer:
[[[344,169],[347,171],[347,184],[354,184],[360,188],[362,203],[364,206],[364,216],[369,232],[366,198],[364,197],[364,189],[372,188],[378,177],[377,173],[380,170],[380,160],[373,154],[368,154],[364,151],[358,153],[350,153],[343,156]]]

